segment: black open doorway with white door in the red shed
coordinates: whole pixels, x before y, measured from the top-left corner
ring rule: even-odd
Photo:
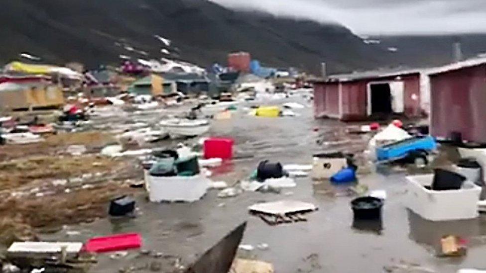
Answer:
[[[403,82],[370,83],[367,88],[367,114],[403,113]]]

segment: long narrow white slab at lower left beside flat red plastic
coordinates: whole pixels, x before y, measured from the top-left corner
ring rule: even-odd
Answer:
[[[10,245],[8,254],[54,254],[61,253],[65,247],[66,253],[77,254],[81,251],[83,243],[79,242],[15,242]]]

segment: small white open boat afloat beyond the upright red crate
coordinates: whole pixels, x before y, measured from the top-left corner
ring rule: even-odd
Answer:
[[[174,118],[160,121],[160,126],[171,138],[199,136],[209,131],[210,124],[205,119]]]

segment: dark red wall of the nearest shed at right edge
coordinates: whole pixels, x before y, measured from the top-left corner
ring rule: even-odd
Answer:
[[[486,66],[433,75],[430,84],[431,134],[486,143]]]

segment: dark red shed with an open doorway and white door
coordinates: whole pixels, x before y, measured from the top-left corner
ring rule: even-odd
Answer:
[[[314,84],[314,115],[344,121],[375,114],[428,113],[428,77],[421,70],[370,71],[330,76]]]

